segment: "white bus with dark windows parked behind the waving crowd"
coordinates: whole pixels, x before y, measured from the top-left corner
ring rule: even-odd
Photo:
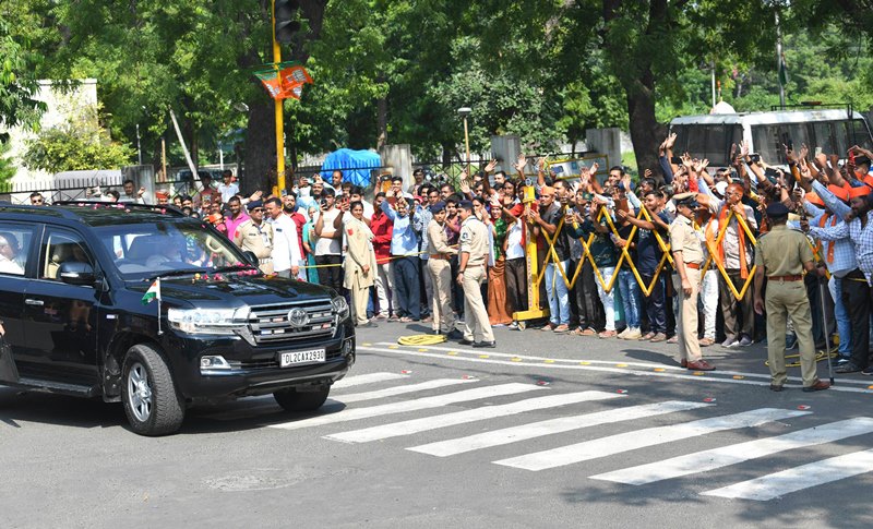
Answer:
[[[817,147],[840,157],[852,145],[873,151],[870,125],[861,113],[848,108],[684,116],[670,121],[670,132],[677,134],[674,156],[687,152],[694,158],[709,159],[709,167],[728,166],[731,144],[743,140],[770,165],[787,164],[784,144],[793,145],[794,151],[806,144],[811,155]]]

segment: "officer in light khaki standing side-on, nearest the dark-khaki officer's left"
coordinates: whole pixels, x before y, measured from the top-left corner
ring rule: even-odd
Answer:
[[[670,248],[673,252],[675,273],[673,287],[681,298],[677,336],[679,359],[683,368],[694,371],[713,371],[716,368],[703,359],[697,341],[697,297],[701,292],[701,267],[703,266],[703,233],[694,228],[694,211],[697,201],[694,193],[673,195],[677,216],[670,224]]]

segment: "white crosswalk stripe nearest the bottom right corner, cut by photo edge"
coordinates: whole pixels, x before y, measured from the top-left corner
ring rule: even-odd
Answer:
[[[871,471],[873,471],[873,449],[823,459],[701,494],[766,502],[803,489]]]

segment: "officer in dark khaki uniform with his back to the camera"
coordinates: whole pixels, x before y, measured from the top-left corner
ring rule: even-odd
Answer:
[[[770,365],[770,389],[781,392],[788,377],[785,369],[786,318],[791,316],[800,348],[800,373],[804,392],[821,392],[830,384],[818,380],[815,370],[815,341],[812,338],[812,315],[803,270],[816,273],[812,249],[802,233],[785,223],[788,208],[777,202],[767,206],[770,231],[762,236],[755,252],[755,312],[767,309],[767,359]],[[809,228],[809,227],[808,227]],[[762,296],[764,277],[767,294]]]

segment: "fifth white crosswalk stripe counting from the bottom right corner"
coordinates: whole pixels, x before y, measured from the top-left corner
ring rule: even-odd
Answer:
[[[525,411],[541,410],[553,408],[557,406],[565,406],[569,404],[586,402],[590,400],[603,400],[610,398],[624,397],[615,393],[606,392],[581,392],[569,393],[561,395],[548,395],[545,397],[535,397],[499,406],[483,406],[481,408],[474,408],[470,410],[456,411],[453,413],[444,413],[435,417],[424,417],[421,419],[412,419],[409,421],[394,422],[391,424],[382,424],[379,426],[364,428],[361,430],[352,430],[349,432],[342,432],[332,435],[326,435],[326,438],[334,441],[343,441],[346,443],[368,443],[370,441],[385,440],[390,437],[399,437],[402,435],[411,435],[415,433],[427,432],[440,428],[454,426],[457,424],[465,424],[468,422],[482,421],[498,417],[506,417],[515,413],[523,413]]]

